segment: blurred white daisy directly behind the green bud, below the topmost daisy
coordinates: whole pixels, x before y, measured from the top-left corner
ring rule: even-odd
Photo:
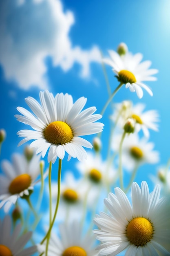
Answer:
[[[113,121],[118,119],[118,125],[124,127],[128,118],[135,119],[135,131],[142,130],[145,137],[149,137],[149,129],[158,131],[159,114],[156,110],[144,112],[145,104],[137,103],[133,105],[132,101],[123,101],[115,104],[115,111],[110,117]]]

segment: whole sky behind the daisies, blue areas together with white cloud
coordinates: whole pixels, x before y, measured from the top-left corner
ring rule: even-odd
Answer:
[[[17,106],[27,108],[24,98],[32,96],[39,101],[40,90],[68,92],[74,101],[87,97],[86,108],[96,106],[100,113],[108,99],[100,51],[108,56],[109,49],[116,50],[124,42],[130,52],[141,52],[144,60],[152,61],[151,67],[159,70],[158,80],[147,83],[153,97],[145,91],[139,100],[123,87],[114,98],[115,102],[129,99],[145,103],[146,110],[159,112],[159,132],[151,131],[150,141],[160,153],[160,162],[140,168],[136,177],[139,184],[149,182],[152,190],[148,173],[156,174],[158,166],[166,165],[170,157],[169,11],[170,0],[0,1],[0,128],[7,132],[0,160],[22,153],[24,145],[17,147],[20,138],[16,133],[25,126],[14,115],[18,114]],[[109,66],[106,72],[114,90],[117,80]],[[110,113],[108,108],[102,118],[104,155]],[[91,142],[92,138],[89,136]],[[75,161],[65,158],[63,170],[76,173]]]

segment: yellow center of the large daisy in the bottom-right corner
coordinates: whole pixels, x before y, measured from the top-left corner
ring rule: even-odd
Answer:
[[[132,219],[126,229],[126,236],[131,244],[136,246],[146,245],[153,236],[153,227],[149,220],[143,217]]]

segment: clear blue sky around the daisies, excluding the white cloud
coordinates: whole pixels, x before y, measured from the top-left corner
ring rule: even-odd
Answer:
[[[97,45],[104,56],[108,56],[108,49],[116,50],[120,42],[125,42],[130,52],[133,54],[141,52],[144,55],[144,60],[151,60],[151,67],[159,70],[156,75],[158,80],[147,83],[152,88],[153,97],[144,91],[144,97],[139,100],[135,93],[121,88],[114,98],[115,102],[129,99],[133,103],[145,103],[146,110],[156,109],[159,112],[161,120],[159,132],[150,131],[150,141],[154,141],[155,150],[160,152],[160,163],[144,165],[135,179],[139,184],[142,180],[146,180],[152,190],[153,184],[148,174],[156,174],[158,166],[166,165],[170,157],[170,0],[62,0],[62,3],[64,10],[71,10],[75,17],[75,24],[69,34],[73,46],[80,45],[85,50]],[[101,112],[108,99],[101,65],[91,64],[93,79],[89,80],[79,77],[80,67],[78,64],[75,64],[68,72],[64,72],[60,67],[53,67],[51,58],[47,57],[46,67],[49,90],[53,94],[68,92],[73,96],[74,101],[82,96],[87,97],[86,108],[96,106],[97,113]],[[107,66],[106,70],[113,91],[118,83],[111,68]],[[25,146],[17,148],[20,138],[16,133],[18,130],[25,129],[26,126],[16,121],[14,117],[15,114],[18,114],[16,107],[22,106],[29,109],[24,98],[32,96],[39,101],[40,90],[35,87],[22,90],[15,81],[7,81],[2,65],[0,65],[0,88],[0,128],[4,128],[7,132],[0,160],[4,158],[11,160],[12,153],[22,153]],[[9,96],[11,90],[15,91],[16,98]],[[102,118],[102,122],[105,124],[102,134],[104,157],[108,144],[108,116],[110,113],[110,108],[108,108]],[[89,136],[91,142],[92,138],[93,136]],[[67,162],[65,157],[63,173],[64,170],[72,169],[78,175],[74,165],[76,161],[71,159],[70,162]],[[57,170],[57,163],[53,168]],[[52,177],[56,179],[57,171],[53,171]]]

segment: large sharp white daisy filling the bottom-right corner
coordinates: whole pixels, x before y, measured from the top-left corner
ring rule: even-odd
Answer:
[[[125,256],[170,255],[170,204],[160,197],[160,186],[149,193],[148,184],[141,188],[134,182],[131,190],[132,206],[126,194],[115,188],[104,204],[111,216],[100,213],[94,230],[102,244],[99,255],[115,256],[126,249]]]

